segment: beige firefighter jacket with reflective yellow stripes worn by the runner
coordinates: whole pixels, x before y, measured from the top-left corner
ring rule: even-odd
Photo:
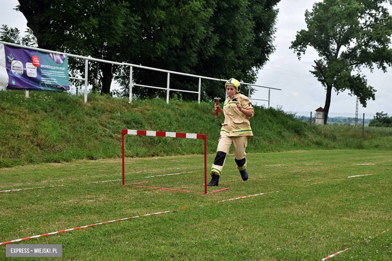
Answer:
[[[242,108],[250,109],[252,117],[254,116],[254,108],[248,97],[241,93],[236,93],[231,98],[228,97],[223,104],[225,122],[222,123],[221,135],[229,137],[247,136],[250,139],[253,136],[249,123],[250,117],[237,108],[237,101],[240,102]]]

